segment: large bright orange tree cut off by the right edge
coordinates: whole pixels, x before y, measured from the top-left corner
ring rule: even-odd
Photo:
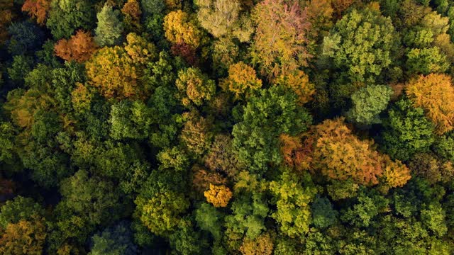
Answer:
[[[451,77],[445,74],[421,75],[409,81],[406,95],[415,108],[424,109],[439,135],[454,129],[454,87]]]

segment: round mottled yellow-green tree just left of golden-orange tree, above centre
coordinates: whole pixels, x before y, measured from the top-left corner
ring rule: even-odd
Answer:
[[[191,103],[201,106],[204,101],[210,101],[216,92],[214,81],[194,67],[180,70],[175,85],[184,106],[190,106]]]

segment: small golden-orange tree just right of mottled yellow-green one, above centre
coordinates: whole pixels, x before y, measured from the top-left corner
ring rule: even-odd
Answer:
[[[228,67],[228,77],[220,86],[223,90],[231,91],[237,99],[247,98],[253,91],[262,87],[262,80],[255,75],[255,70],[243,62],[231,64]]]

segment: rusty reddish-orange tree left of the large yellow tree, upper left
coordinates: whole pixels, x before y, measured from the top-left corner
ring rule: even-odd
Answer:
[[[96,50],[92,36],[83,30],[77,30],[70,40],[60,39],[55,44],[55,55],[63,60],[75,60],[79,63],[89,60]]]

